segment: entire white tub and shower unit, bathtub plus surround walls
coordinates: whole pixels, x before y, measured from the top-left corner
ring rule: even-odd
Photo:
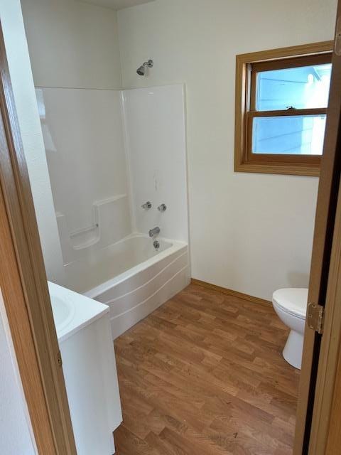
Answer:
[[[190,282],[184,87],[36,95],[65,282],[117,338]]]

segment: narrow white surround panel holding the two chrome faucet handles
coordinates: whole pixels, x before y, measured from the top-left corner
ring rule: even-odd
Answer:
[[[188,242],[188,188],[183,85],[124,90],[126,148],[134,230]],[[141,205],[150,200],[153,207]],[[157,210],[166,204],[167,210]]]

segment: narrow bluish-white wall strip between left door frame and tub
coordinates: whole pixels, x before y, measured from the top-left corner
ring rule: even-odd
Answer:
[[[63,284],[63,259],[20,1],[0,0],[0,17],[45,267],[51,281]]]

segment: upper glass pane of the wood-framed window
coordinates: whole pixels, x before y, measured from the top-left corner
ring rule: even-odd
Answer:
[[[327,107],[331,71],[327,63],[257,73],[256,110]]]

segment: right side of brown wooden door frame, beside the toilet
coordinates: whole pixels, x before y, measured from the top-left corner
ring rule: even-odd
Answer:
[[[308,302],[324,307],[325,321],[323,335],[309,328],[308,321],[305,323],[293,455],[325,454],[340,350],[341,309],[337,285],[341,289],[338,276],[341,264],[341,0],[337,5],[336,22],[308,292]]]

